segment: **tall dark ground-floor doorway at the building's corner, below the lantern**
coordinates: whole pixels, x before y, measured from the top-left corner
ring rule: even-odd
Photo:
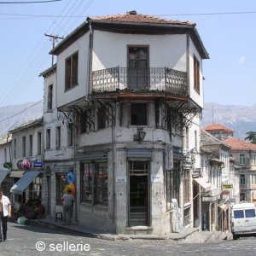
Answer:
[[[129,161],[129,226],[149,224],[148,161]]]

